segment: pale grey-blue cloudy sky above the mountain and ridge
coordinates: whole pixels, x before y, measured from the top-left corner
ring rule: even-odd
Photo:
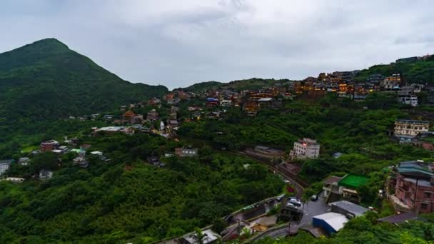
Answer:
[[[434,1],[4,0],[0,52],[55,37],[131,82],[317,76],[434,52]]]

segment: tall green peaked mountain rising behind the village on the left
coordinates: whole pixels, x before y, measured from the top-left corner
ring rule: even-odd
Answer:
[[[111,111],[167,91],[123,81],[56,39],[0,54],[0,118],[9,121]]]

